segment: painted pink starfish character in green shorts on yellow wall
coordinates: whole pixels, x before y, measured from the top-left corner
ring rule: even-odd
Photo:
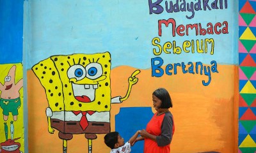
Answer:
[[[8,120],[9,113],[13,115],[13,120],[17,120],[18,109],[20,108],[19,90],[23,87],[23,79],[15,84],[15,70],[13,65],[8,75],[4,78],[4,84],[0,82],[1,99],[0,106],[3,109],[3,119]]]

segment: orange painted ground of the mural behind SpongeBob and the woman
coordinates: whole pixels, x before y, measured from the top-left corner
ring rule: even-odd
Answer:
[[[111,94],[125,96],[127,79],[135,68],[120,66],[111,70]],[[220,66],[212,73],[211,84],[204,75],[177,74],[151,77],[151,69],[140,69],[138,84],[122,104],[111,105],[111,131],[115,130],[115,115],[120,107],[152,106],[152,92],[166,88],[172,97],[175,134],[171,152],[237,152],[238,73],[236,66]],[[47,99],[44,88],[32,71],[28,71],[28,142],[29,152],[61,152],[62,141],[58,131],[49,134],[45,117]],[[154,112],[154,110],[152,110]],[[132,135],[132,134],[131,134]],[[93,153],[109,152],[104,145],[104,135],[93,140]],[[84,135],[74,135],[68,141],[68,153],[88,152]]]

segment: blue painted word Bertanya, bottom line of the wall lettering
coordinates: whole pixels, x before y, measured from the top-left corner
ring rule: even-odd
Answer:
[[[162,77],[164,75],[164,71],[166,75],[177,75],[177,67],[182,68],[182,73],[191,73],[191,74],[198,74],[206,75],[208,77],[208,81],[202,80],[202,84],[207,86],[211,83],[211,72],[212,73],[219,73],[217,69],[217,62],[211,61],[211,66],[204,66],[202,62],[196,62],[195,66],[193,62],[188,62],[187,65],[184,62],[168,64],[165,68],[163,66],[163,59],[161,57],[155,57],[151,59],[151,68],[152,68],[152,77]],[[188,67],[186,67],[188,66]],[[211,68],[210,68],[211,67]]]

